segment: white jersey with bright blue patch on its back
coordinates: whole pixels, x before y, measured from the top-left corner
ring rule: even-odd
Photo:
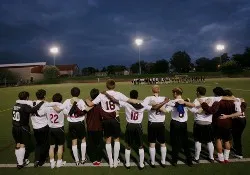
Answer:
[[[183,116],[180,115],[180,113],[177,111],[176,107],[173,107],[174,104],[178,101],[180,101],[181,99],[175,99],[175,100],[170,100],[168,102],[168,105],[170,106],[167,106],[166,107],[166,110],[168,112],[171,112],[171,117],[172,117],[172,120],[175,120],[175,121],[178,121],[178,122],[186,122],[188,120],[188,108],[187,107],[184,107],[184,114]]]

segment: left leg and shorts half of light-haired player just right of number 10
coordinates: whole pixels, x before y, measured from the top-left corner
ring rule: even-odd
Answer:
[[[155,167],[155,143],[156,143],[156,132],[154,128],[154,123],[148,122],[148,142],[149,142],[149,155],[150,164]]]

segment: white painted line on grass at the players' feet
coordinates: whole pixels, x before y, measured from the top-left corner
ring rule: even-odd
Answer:
[[[250,162],[250,158],[243,158],[243,159],[230,159],[229,162],[235,163],[235,162]],[[200,160],[200,164],[208,164],[210,163],[207,160]],[[215,163],[218,163],[215,161]],[[177,163],[178,165],[183,165],[185,164],[182,161],[178,161]],[[145,163],[146,166],[149,166],[148,163]],[[156,163],[155,165],[160,165],[159,163]],[[171,164],[169,162],[166,162],[167,166],[170,166]],[[118,166],[122,167],[124,166],[124,164],[120,163]],[[131,162],[130,166],[134,167],[134,166],[138,166],[136,163]],[[27,167],[34,167],[33,163],[30,163]],[[42,167],[50,167],[49,163],[45,163]],[[108,163],[101,163],[101,165],[99,166],[94,166],[92,163],[85,163],[84,165],[79,165],[76,166],[75,163],[66,163],[66,165],[64,165],[64,167],[109,167]],[[0,164],[0,168],[16,168],[16,164]]]

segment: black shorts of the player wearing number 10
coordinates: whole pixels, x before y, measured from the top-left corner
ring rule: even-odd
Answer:
[[[143,130],[139,123],[128,123],[125,131],[125,142],[131,146],[135,143],[137,146],[143,146]]]

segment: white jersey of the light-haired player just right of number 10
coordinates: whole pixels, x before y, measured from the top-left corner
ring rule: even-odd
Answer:
[[[150,105],[152,102],[155,102],[156,104],[162,103],[165,100],[165,97],[161,96],[149,96],[146,97],[142,105]],[[151,110],[148,112],[148,121],[150,122],[164,122],[165,121],[165,113],[161,111]]]

